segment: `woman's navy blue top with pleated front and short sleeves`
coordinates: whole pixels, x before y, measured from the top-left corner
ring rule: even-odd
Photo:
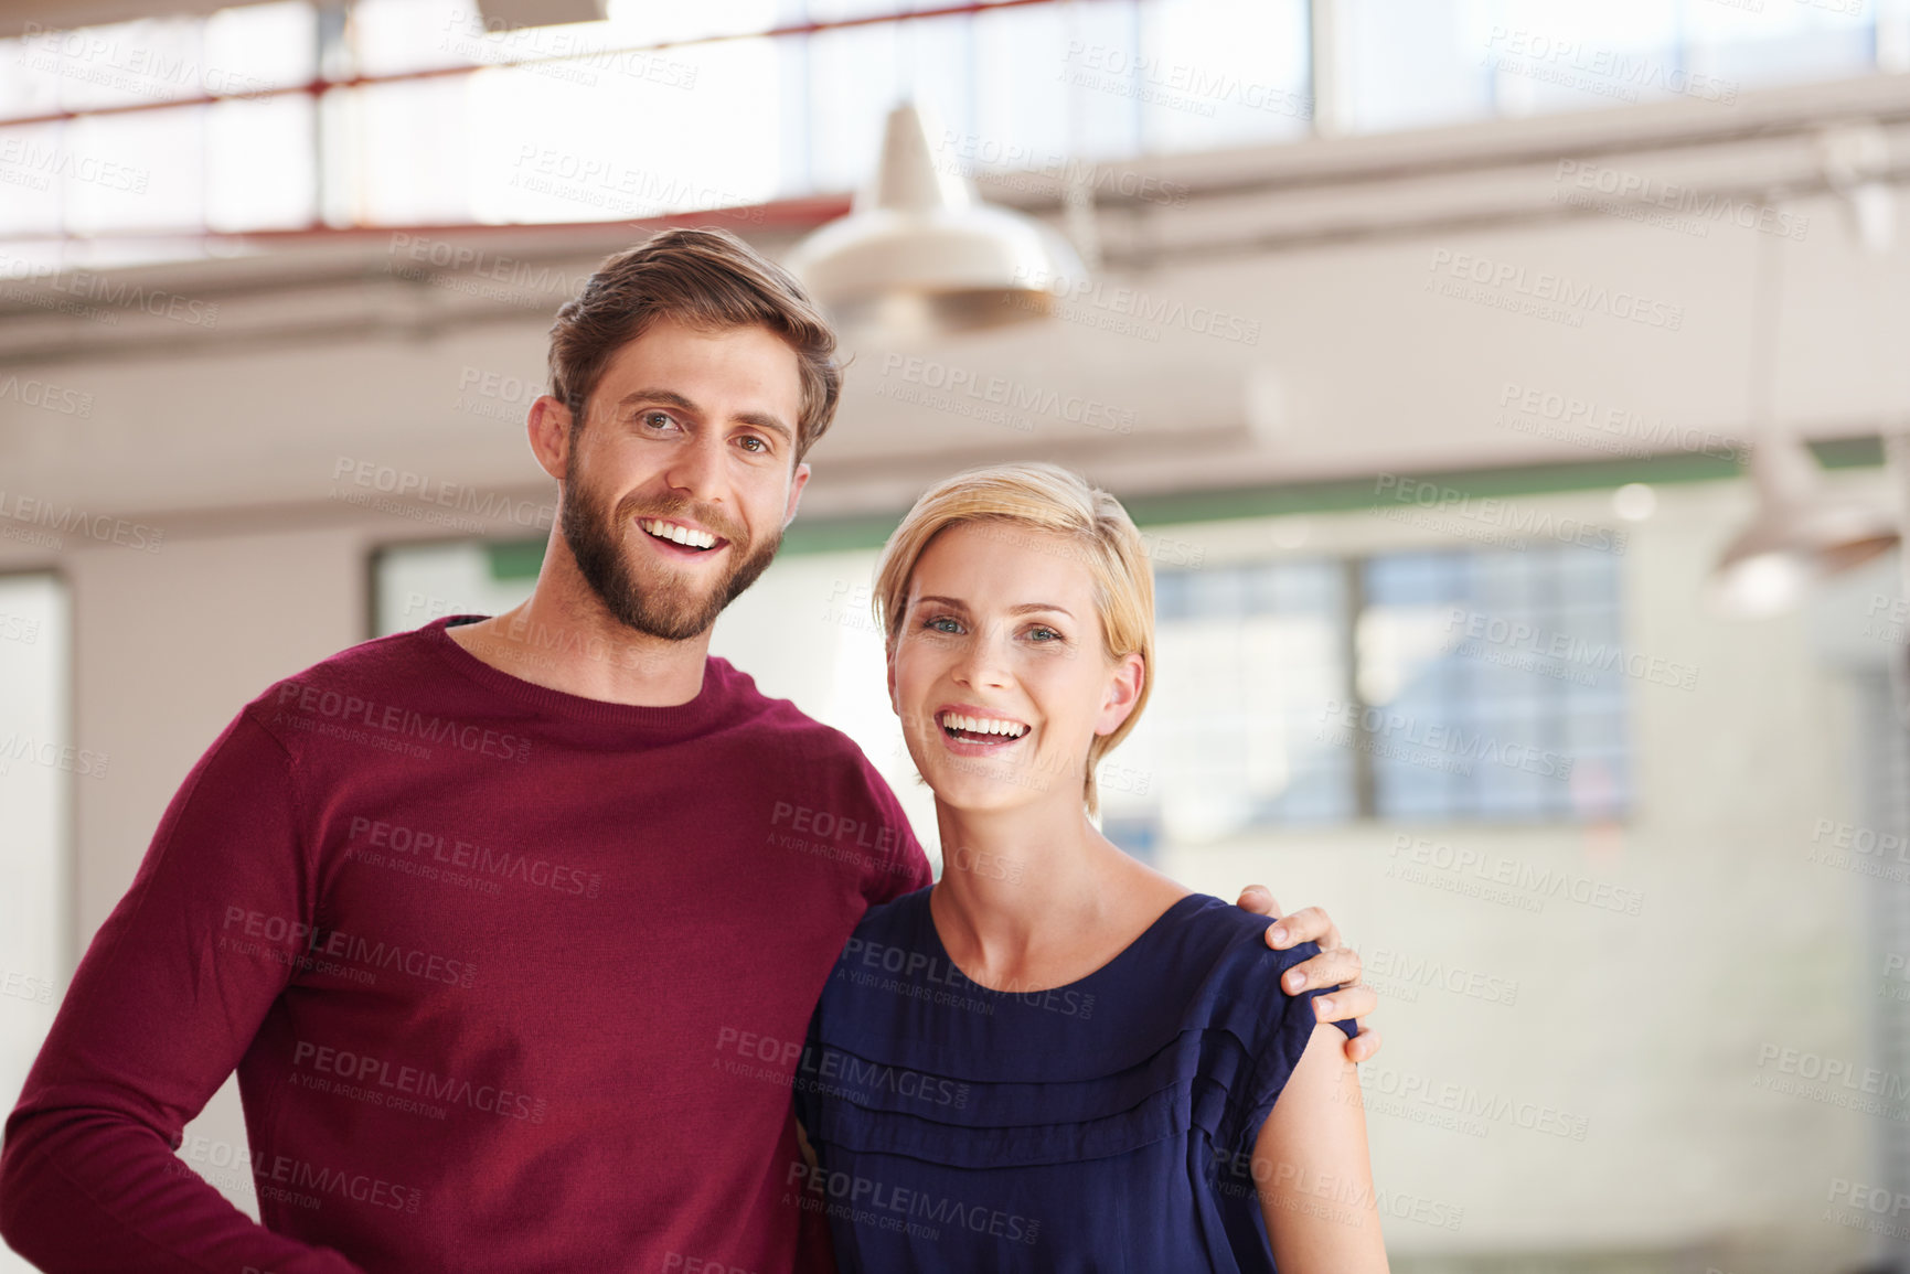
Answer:
[[[796,1114],[842,1274],[1274,1270],[1253,1142],[1312,1037],[1318,951],[1188,894],[1068,986],[993,991],[928,890],[871,907],[810,1022]],[[1341,1022],[1348,1035],[1352,1022]]]

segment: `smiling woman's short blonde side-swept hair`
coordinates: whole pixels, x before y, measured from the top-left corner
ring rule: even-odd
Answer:
[[[1094,581],[1094,613],[1100,617],[1102,648],[1110,661],[1140,655],[1140,693],[1135,711],[1112,733],[1094,735],[1081,775],[1081,798],[1089,814],[1098,808],[1094,768],[1140,720],[1154,690],[1154,571],[1133,518],[1106,491],[1091,487],[1058,464],[989,464],[938,481],[915,500],[882,548],[875,567],[875,623],[896,657],[902,619],[909,605],[909,577],[930,541],[963,523],[997,527],[1014,537],[1016,529],[1049,531],[1070,537],[1070,556],[1083,562]],[[1054,552],[1052,544],[1028,541],[1029,548]]]

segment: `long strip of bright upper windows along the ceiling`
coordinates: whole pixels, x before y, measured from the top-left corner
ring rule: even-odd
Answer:
[[[1314,130],[1306,0],[907,17],[928,8],[944,6],[626,0],[602,23],[504,27],[476,0],[357,0],[342,23],[281,0],[32,31],[0,40],[0,235],[38,248],[197,227],[615,222],[838,193],[867,180],[882,117],[905,96],[966,170],[1068,172]],[[1333,122],[1347,132],[1729,103],[1897,69],[1910,48],[1910,10],[1881,0],[1327,11]],[[321,69],[338,86],[313,92]],[[159,243],[145,250],[178,250]]]

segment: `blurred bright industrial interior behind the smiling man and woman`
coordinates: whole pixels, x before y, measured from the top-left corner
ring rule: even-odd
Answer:
[[[1394,1268],[1910,1268],[1910,0],[562,10],[0,4],[8,1102],[241,703],[525,596],[592,265],[787,258],[915,101],[1085,273],[850,334],[714,649],[932,840],[875,552],[955,468],[1081,470],[1159,579],[1104,825],[1360,945]],[[227,1087],[181,1154],[252,1207],[243,1146]]]

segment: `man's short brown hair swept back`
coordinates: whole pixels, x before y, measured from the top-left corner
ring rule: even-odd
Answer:
[[[550,325],[550,395],[584,424],[584,403],[611,355],[657,319],[697,330],[766,327],[796,353],[802,418],[798,464],[835,420],[842,369],[835,330],[796,279],[724,229],[667,229],[598,265]]]

